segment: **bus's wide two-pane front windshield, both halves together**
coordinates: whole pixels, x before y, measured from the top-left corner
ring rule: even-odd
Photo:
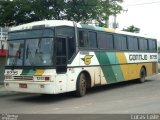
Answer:
[[[27,32],[27,31],[26,31]],[[15,33],[16,34],[16,33]],[[53,34],[53,32],[52,32]],[[30,36],[29,36],[30,37]],[[53,37],[22,38],[8,41],[8,66],[53,65]]]

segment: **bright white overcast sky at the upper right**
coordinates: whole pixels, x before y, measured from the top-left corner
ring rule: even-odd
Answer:
[[[140,33],[160,41],[160,0],[124,0],[121,5],[124,12],[117,15],[120,30],[134,25]]]

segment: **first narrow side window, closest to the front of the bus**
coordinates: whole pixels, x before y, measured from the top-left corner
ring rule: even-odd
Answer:
[[[79,47],[88,46],[88,35],[86,31],[79,31]]]

